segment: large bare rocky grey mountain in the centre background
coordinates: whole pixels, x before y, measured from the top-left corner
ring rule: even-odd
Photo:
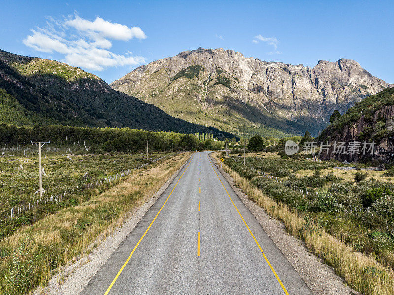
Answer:
[[[316,134],[335,109],[388,87],[356,61],[267,62],[233,50],[184,51],[140,66],[111,84],[187,121],[228,132]]]

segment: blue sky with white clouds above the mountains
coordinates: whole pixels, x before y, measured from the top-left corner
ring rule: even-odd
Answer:
[[[354,59],[394,83],[393,1],[0,0],[0,7],[0,49],[65,61],[108,83],[198,47],[311,67]]]

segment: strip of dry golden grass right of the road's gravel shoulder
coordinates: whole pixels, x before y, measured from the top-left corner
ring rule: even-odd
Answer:
[[[220,154],[215,153],[214,156],[219,163]],[[317,225],[306,224],[296,211],[285,204],[278,204],[227,165],[223,164],[223,168],[251,200],[283,222],[289,234],[304,241],[306,247],[332,266],[350,287],[366,295],[394,295],[394,274],[388,267],[373,257],[355,252]]]

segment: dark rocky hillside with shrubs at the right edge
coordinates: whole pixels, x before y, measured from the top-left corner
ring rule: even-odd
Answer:
[[[379,161],[393,160],[394,152],[394,88],[387,88],[356,103],[340,118],[328,125],[317,138],[318,142],[344,142],[348,148],[345,154],[334,152],[334,147],[328,153],[322,152],[320,157],[328,160],[358,161],[372,159]],[[351,152],[349,145],[360,142],[358,152]],[[362,150],[364,142],[374,142],[374,150],[366,145],[365,155]]]

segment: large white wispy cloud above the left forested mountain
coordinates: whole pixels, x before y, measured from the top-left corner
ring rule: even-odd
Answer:
[[[63,21],[49,17],[45,28],[31,31],[23,40],[26,46],[41,52],[62,54],[64,61],[73,66],[101,71],[107,67],[145,62],[143,57],[131,52],[122,55],[109,50],[112,47],[110,40],[145,39],[146,35],[139,27],[129,28],[99,17],[91,22],[74,16]]]

